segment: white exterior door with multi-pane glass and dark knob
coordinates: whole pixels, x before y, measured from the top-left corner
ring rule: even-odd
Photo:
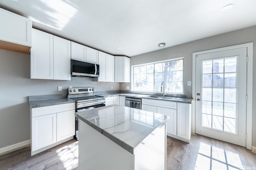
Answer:
[[[246,146],[247,48],[196,55],[197,134]]]

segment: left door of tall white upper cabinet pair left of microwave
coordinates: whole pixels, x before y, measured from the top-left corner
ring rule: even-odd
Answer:
[[[32,29],[30,79],[53,79],[53,35]]]

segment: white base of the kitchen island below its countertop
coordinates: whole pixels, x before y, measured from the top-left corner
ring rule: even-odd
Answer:
[[[166,124],[150,133],[128,152],[79,120],[78,164],[80,170],[165,170]]]

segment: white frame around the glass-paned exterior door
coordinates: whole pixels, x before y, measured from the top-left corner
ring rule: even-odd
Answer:
[[[196,132],[196,55],[204,53],[212,53],[217,51],[224,51],[228,49],[236,49],[247,47],[247,103],[246,103],[246,148],[252,150],[252,81],[253,81],[253,42],[233,45],[229,47],[222,47],[217,49],[210,49],[206,51],[199,51],[192,53],[192,134]]]

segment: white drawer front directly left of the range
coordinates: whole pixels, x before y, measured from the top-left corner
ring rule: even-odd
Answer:
[[[74,110],[75,107],[76,107],[75,103],[67,103],[62,105],[53,105],[53,106],[46,106],[46,107],[36,107],[36,108],[32,108],[32,117],[70,111],[70,110]]]

